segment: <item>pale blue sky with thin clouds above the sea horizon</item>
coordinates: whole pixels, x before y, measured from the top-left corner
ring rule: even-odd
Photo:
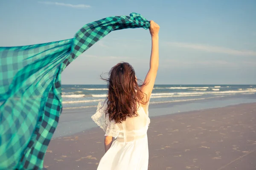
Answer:
[[[256,84],[255,0],[0,0],[0,46],[69,39],[86,23],[142,14],[160,25],[156,84]],[[113,31],[72,62],[62,84],[104,84],[120,61],[144,79],[150,34]]]

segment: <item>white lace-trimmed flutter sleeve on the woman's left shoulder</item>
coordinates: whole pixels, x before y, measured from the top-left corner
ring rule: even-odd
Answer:
[[[99,102],[96,113],[91,116],[93,121],[103,129],[105,136],[116,138],[119,134],[119,127],[114,121],[109,121],[108,114],[105,113],[107,104],[104,101]]]

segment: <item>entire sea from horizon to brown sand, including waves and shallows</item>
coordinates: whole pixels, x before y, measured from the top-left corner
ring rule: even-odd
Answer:
[[[97,124],[91,116],[107,96],[106,85],[62,85],[63,112],[53,138],[84,132]],[[154,85],[149,116],[256,102],[256,85]]]

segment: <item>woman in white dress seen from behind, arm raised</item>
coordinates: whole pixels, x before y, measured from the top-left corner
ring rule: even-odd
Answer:
[[[157,76],[159,29],[157,23],[150,22],[150,68],[143,85],[138,85],[134,69],[127,62],[118,63],[109,72],[108,97],[99,102],[92,116],[105,131],[106,153],[97,170],[148,169],[148,105]]]

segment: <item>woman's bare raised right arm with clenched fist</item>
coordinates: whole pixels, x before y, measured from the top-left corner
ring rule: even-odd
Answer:
[[[158,69],[158,63],[159,63],[159,38],[158,38],[158,32],[159,32],[159,25],[155,23],[154,21],[150,21],[150,34],[151,34],[151,41],[152,41],[152,47],[151,47],[151,57],[150,57],[150,67],[148,74],[145,77],[144,84],[141,87],[141,91],[146,94],[144,96],[144,100],[148,101],[149,97],[151,96],[154,82],[157,77],[157,69]]]

